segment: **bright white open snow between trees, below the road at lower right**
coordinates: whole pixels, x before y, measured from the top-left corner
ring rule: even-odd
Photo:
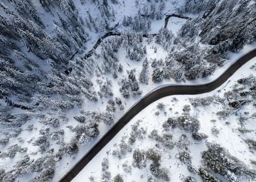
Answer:
[[[121,174],[124,181],[146,181],[147,177],[150,176],[149,167],[146,169],[138,169],[132,168],[131,173],[124,172],[122,168],[122,164],[125,162],[128,166],[132,166],[133,161],[133,151],[135,149],[140,149],[146,151],[149,148],[155,148],[155,144],[157,142],[148,138],[151,131],[153,129],[157,129],[159,135],[165,133],[163,130],[163,123],[167,120],[168,117],[176,117],[180,116],[183,112],[184,105],[189,105],[191,107],[191,111],[189,111],[190,116],[197,118],[200,122],[199,133],[204,133],[208,135],[206,139],[208,142],[217,142],[221,146],[228,149],[229,153],[232,156],[237,157],[240,161],[244,162],[249,168],[255,168],[251,161],[256,160],[255,153],[251,152],[248,149],[248,144],[244,142],[246,139],[255,140],[255,118],[248,118],[245,123],[245,127],[252,131],[252,133],[240,133],[238,128],[241,127],[239,122],[238,114],[242,114],[242,116],[250,116],[251,114],[255,114],[255,106],[253,103],[242,107],[241,110],[237,111],[238,114],[230,114],[226,119],[221,119],[216,115],[216,112],[223,110],[224,103],[211,103],[207,106],[201,107],[193,107],[189,99],[193,98],[206,98],[209,96],[221,97],[225,98],[225,92],[233,89],[233,86],[237,84],[237,80],[241,78],[246,78],[249,76],[253,76],[255,78],[255,70],[250,69],[251,66],[256,64],[256,59],[250,60],[247,64],[242,66],[231,78],[226,81],[222,86],[217,88],[216,90],[195,96],[169,96],[163,99],[159,99],[152,103],[146,109],[142,110],[139,114],[131,120],[121,131],[116,135],[90,162],[89,164],[73,179],[73,181],[84,181],[88,180],[88,177],[95,177],[95,181],[99,181],[101,179],[101,162],[103,158],[106,157],[108,159],[108,171],[111,172],[111,176],[114,177],[117,174]],[[254,68],[255,69],[255,68]],[[174,99],[176,98],[176,99]],[[255,100],[254,100],[255,102]],[[159,103],[163,103],[165,105],[165,109],[159,110],[157,109],[157,105]],[[171,110],[170,110],[171,108]],[[156,115],[155,112],[159,112],[159,115]],[[247,115],[244,115],[244,114]],[[143,127],[146,129],[146,135],[144,135],[143,139],[137,139],[136,142],[131,145],[133,151],[127,152],[121,158],[118,158],[112,155],[114,149],[118,148],[118,144],[120,144],[121,138],[127,142],[127,137],[132,131],[132,125],[138,120],[142,120],[140,122],[139,127]],[[212,131],[217,129],[219,134],[214,135]],[[170,132],[173,136],[174,141],[178,140],[178,137],[182,134],[187,135],[188,133],[180,130],[174,129]],[[203,141],[195,141],[189,136],[189,140],[191,141],[191,145],[189,146],[189,150],[191,151],[192,156],[192,164],[195,168],[199,168],[201,158],[201,151],[205,151],[206,144]],[[128,144],[128,143],[127,143]],[[182,164],[177,158],[178,152],[180,149],[174,148],[171,151],[168,151],[167,148],[160,147],[157,148],[159,153],[161,153],[161,166],[166,167],[169,172],[170,181],[182,181],[184,177],[191,175],[187,170],[185,164]],[[196,179],[199,179],[197,175],[192,175]],[[199,179],[200,180],[200,179]]]

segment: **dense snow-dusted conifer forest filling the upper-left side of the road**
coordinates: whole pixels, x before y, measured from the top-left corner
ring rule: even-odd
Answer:
[[[208,77],[256,40],[252,0],[3,0],[0,9],[0,181],[50,181],[146,86]],[[170,14],[189,17],[177,34],[150,31]]]

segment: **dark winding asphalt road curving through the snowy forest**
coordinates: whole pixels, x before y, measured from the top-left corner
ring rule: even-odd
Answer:
[[[219,78],[211,83],[205,85],[170,85],[164,86],[157,90],[153,90],[150,94],[144,96],[144,98],[140,99],[136,105],[131,107],[118,122],[91,148],[80,161],[76,163],[76,165],[65,174],[64,177],[60,180],[60,182],[71,181],[83,168],[86,164],[101,151],[108,142],[114,138],[114,136],[133,118],[138,114],[141,110],[145,109],[148,105],[157,101],[158,99],[164,98],[166,96],[172,95],[195,95],[202,94],[206,92],[210,92],[217,87],[221,86],[231,75],[236,72],[241,66],[243,66],[246,62],[256,57],[256,49],[246,53],[240,57],[240,59],[236,60],[231,67],[229,67]]]

